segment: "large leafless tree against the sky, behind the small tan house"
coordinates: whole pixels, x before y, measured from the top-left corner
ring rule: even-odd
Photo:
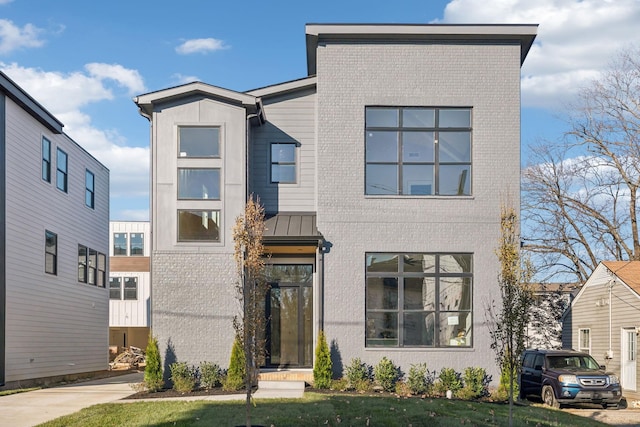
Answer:
[[[523,171],[523,242],[538,270],[584,283],[602,260],[640,259],[640,48],[579,93],[568,124]]]

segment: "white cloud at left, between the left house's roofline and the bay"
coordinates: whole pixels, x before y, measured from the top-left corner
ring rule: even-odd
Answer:
[[[149,148],[127,146],[117,130],[97,129],[82,108],[110,101],[118,87],[141,92],[144,84],[136,70],[120,65],[88,64],[87,74],[60,73],[0,63],[0,69],[64,123],[67,135],[111,171],[111,197],[148,197]],[[115,88],[108,87],[115,81]]]

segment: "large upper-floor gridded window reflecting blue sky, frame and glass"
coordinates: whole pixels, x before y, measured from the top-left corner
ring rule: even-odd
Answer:
[[[365,193],[471,194],[471,109],[367,107]]]

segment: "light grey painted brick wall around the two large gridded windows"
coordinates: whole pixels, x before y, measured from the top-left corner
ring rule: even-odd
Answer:
[[[520,48],[518,45],[321,44],[317,50],[318,230],[325,255],[327,338],[374,364],[405,369],[483,366],[497,378],[484,307],[496,283],[500,205],[519,208]],[[364,111],[368,105],[473,108],[471,197],[364,195]],[[320,171],[322,171],[320,173]],[[471,252],[473,348],[365,348],[365,253]]]

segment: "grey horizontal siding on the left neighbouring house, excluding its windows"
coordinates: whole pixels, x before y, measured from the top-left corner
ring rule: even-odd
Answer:
[[[51,182],[41,140],[51,141]],[[56,148],[68,156],[68,192],[56,188]],[[85,206],[85,170],[95,209]],[[78,245],[108,254],[109,171],[65,134],[6,101],[7,382],[104,370],[108,290],[78,282]],[[57,234],[57,275],[44,271],[45,230]],[[108,265],[107,265],[108,269]]]

